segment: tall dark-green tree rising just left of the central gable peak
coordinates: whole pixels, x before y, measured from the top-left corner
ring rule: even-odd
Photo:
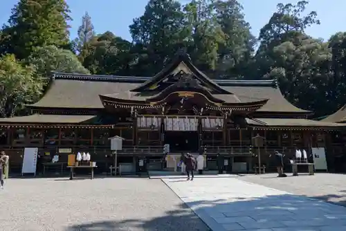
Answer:
[[[129,26],[131,37],[138,44],[136,48],[143,48],[134,53],[134,65],[147,64],[145,68],[139,67],[144,71],[140,74],[157,73],[176,52],[179,42],[186,37],[181,35],[185,26],[183,20],[179,1],[149,0],[144,14]]]

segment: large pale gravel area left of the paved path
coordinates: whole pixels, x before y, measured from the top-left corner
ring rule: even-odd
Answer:
[[[161,180],[35,178],[5,186],[0,230],[208,230]]]

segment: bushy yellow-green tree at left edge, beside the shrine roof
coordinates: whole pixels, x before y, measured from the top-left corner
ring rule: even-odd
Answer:
[[[35,66],[21,66],[15,55],[0,58],[0,115],[12,117],[34,102],[42,93],[42,80],[35,75]]]

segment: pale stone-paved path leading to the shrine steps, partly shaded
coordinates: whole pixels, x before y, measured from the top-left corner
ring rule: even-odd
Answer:
[[[229,178],[165,178],[214,231],[344,231],[346,207]]]

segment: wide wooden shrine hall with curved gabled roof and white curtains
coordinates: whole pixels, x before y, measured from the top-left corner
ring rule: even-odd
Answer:
[[[89,152],[106,172],[113,136],[124,139],[118,164],[128,172],[172,169],[170,158],[201,149],[206,169],[216,168],[220,154],[230,172],[251,172],[254,136],[265,138],[260,154],[270,166],[274,150],[290,155],[295,148],[325,147],[328,156],[330,133],[344,127],[309,120],[313,112],[289,103],[275,80],[211,80],[186,54],[154,77],[53,73],[43,98],[26,108],[30,115],[0,119],[12,172],[21,168],[25,147],[39,149],[40,163],[56,154],[66,163],[68,154]]]

